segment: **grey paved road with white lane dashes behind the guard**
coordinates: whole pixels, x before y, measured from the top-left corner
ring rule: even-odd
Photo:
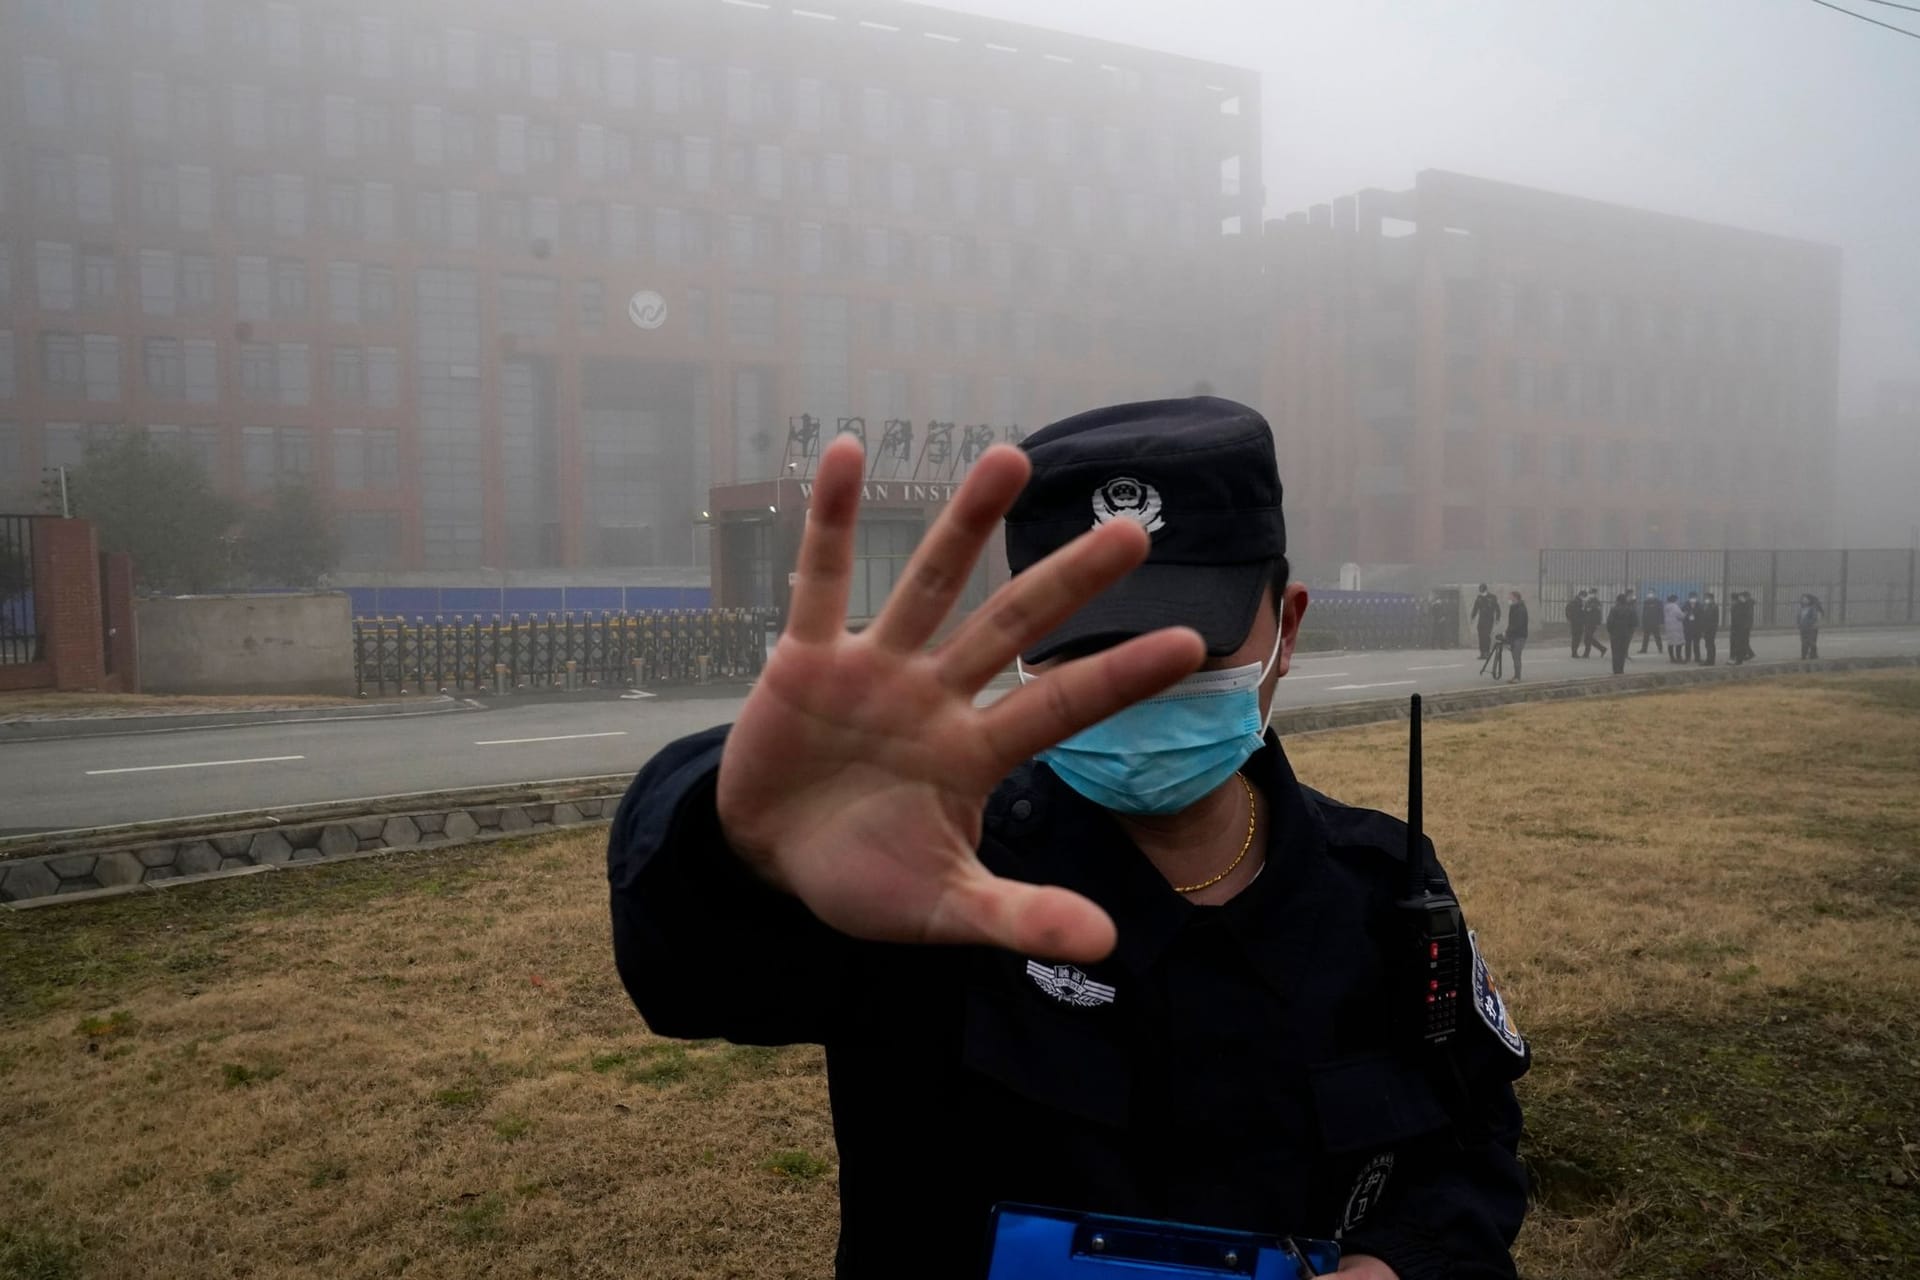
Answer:
[[[1763,635],[1761,658],[1795,658],[1793,635]],[[1724,641],[1722,641],[1724,652]],[[1920,652],[1920,631],[1837,631],[1828,658]],[[1667,658],[1636,652],[1632,670]],[[1526,677],[1607,677],[1601,656],[1559,643],[1526,652]],[[1488,683],[1473,651],[1304,656],[1279,706],[1398,699]],[[989,691],[985,697],[998,697]],[[394,720],[321,720],[0,745],[0,835],[102,827],[157,818],[543,781],[637,770],[668,741],[726,723],[739,697],[505,702],[488,710]]]

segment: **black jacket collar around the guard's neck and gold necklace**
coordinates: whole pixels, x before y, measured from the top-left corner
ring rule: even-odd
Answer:
[[[1254,969],[1284,994],[1311,952],[1319,912],[1311,898],[1327,865],[1327,831],[1294,777],[1275,733],[1246,762],[1246,777],[1267,798],[1267,865],[1231,902],[1196,908],[1173,892],[1116,821],[1044,764],[1029,764],[995,794],[989,827],[1014,854],[1000,875],[1060,885],[1098,902],[1119,929],[1114,961],[1146,973],[1198,913],[1213,913]]]

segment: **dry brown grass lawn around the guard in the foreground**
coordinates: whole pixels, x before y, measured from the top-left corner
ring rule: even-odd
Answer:
[[[1402,733],[1290,750],[1398,810]],[[1427,737],[1526,1274],[1920,1274],[1920,677]],[[597,833],[0,913],[0,1278],[831,1270],[820,1054],[651,1038]]]

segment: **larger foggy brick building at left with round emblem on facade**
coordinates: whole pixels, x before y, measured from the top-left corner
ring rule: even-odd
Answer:
[[[803,411],[1258,388],[1248,71],[881,0],[0,10],[0,509],[134,428],[309,480],[348,568],[685,566]]]

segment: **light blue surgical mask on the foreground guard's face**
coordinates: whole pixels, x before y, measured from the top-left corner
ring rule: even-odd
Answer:
[[[1275,629],[1265,664],[1194,672],[1165,693],[1048,747],[1041,760],[1100,808],[1177,814],[1260,750],[1273,716],[1273,708],[1260,714],[1260,685],[1279,652]],[[1035,679],[1027,672],[1020,677]]]

